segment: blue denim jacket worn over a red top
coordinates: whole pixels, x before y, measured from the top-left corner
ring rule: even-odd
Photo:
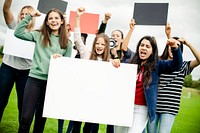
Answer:
[[[152,71],[152,82],[148,87],[144,88],[144,94],[148,107],[149,119],[152,122],[156,114],[158,81],[162,73],[170,73],[179,70],[182,66],[183,59],[180,48],[177,50],[172,48],[173,60],[158,60],[156,68]]]

